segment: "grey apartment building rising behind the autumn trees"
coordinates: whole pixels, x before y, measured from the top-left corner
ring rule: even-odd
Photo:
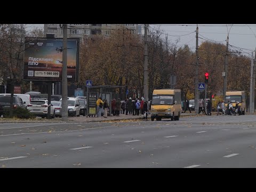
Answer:
[[[111,30],[127,28],[134,34],[141,34],[139,24],[68,24],[68,38],[83,38],[84,35],[111,34]],[[54,34],[55,38],[63,38],[60,24],[44,24],[44,36]]]

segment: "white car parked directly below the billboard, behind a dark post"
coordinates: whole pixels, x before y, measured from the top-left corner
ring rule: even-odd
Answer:
[[[46,117],[48,111],[48,100],[47,99],[31,99],[30,104],[27,106],[30,113],[36,116]],[[55,110],[51,104],[51,116],[55,118]]]

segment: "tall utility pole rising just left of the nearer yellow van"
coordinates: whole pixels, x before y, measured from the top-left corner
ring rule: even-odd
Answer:
[[[148,24],[144,24],[145,34],[144,34],[144,43],[145,43],[145,54],[144,54],[144,83],[143,83],[143,94],[146,101],[148,101]]]

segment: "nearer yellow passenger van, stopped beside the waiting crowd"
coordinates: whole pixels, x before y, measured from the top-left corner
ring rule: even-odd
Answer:
[[[180,90],[154,90],[151,102],[151,121],[161,121],[162,118],[171,118],[179,121],[181,114]]]

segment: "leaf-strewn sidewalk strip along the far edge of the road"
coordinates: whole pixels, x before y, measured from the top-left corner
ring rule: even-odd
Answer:
[[[181,114],[181,117],[184,116],[195,116],[198,114],[194,114],[193,112]],[[150,115],[148,115],[148,119],[150,119]],[[125,115],[120,114],[120,116],[108,116],[107,118],[104,117],[86,117],[86,116],[79,116],[79,117],[68,117],[68,122],[75,122],[75,123],[90,123],[90,122],[102,122],[102,121],[120,121],[120,120],[141,120],[143,119],[142,115]],[[0,123],[60,123],[62,122],[61,118],[54,118],[54,119],[46,119],[41,117],[36,117],[35,119],[19,119],[19,118],[0,118]]]

